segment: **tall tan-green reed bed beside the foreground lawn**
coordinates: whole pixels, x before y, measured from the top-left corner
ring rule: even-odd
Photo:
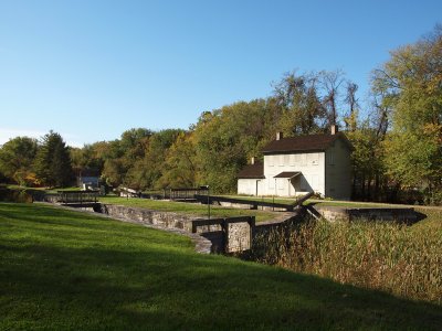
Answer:
[[[442,227],[307,221],[254,244],[252,256],[262,263],[442,303]]]

